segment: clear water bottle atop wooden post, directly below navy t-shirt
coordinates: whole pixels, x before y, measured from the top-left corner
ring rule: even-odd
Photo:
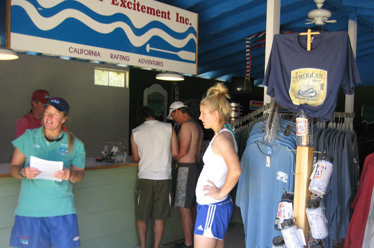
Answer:
[[[308,116],[301,108],[296,115],[296,140],[298,146],[313,146],[313,119]]]

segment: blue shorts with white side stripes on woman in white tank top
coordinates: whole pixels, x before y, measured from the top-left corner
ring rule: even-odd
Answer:
[[[197,204],[196,223],[193,233],[223,240],[233,209],[234,205],[230,196],[213,204]]]

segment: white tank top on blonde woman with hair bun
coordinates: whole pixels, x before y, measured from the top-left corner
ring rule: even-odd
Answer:
[[[223,129],[220,132],[224,132],[224,131],[228,131],[232,134],[232,132],[228,129]],[[227,195],[221,199],[214,199],[210,196],[204,196],[207,192],[203,190],[204,185],[209,184],[207,180],[212,181],[218,188],[222,187],[224,185],[224,182],[226,181],[228,168],[227,168],[226,163],[224,162],[224,158],[221,156],[218,156],[212,150],[212,143],[213,143],[213,140],[216,138],[217,134],[214,135],[214,137],[209,143],[208,148],[206,149],[204,153],[204,156],[203,156],[204,167],[200,173],[199,180],[197,181],[197,185],[196,185],[196,191],[195,191],[196,201],[200,205],[216,203],[219,201],[223,201],[224,199],[227,198]],[[236,144],[234,135],[232,135],[232,138],[234,139],[234,142],[235,142],[235,151],[238,153],[238,145]]]

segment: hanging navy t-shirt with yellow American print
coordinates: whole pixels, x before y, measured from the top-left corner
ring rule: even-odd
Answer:
[[[292,112],[330,120],[339,88],[348,95],[361,83],[348,33],[320,32],[306,50],[307,35],[276,34],[263,85],[267,94]]]

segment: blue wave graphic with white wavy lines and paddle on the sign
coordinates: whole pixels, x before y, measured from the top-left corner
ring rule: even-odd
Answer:
[[[196,62],[196,30],[178,33],[160,21],[136,28],[123,13],[101,15],[78,1],[44,8],[37,0],[12,0],[13,33],[132,52],[187,63]]]

